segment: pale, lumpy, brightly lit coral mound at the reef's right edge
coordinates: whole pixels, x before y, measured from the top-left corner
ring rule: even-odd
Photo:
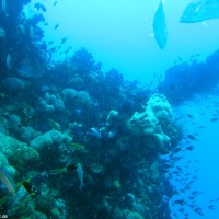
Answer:
[[[162,94],[153,94],[143,113],[136,112],[127,125],[134,136],[152,138],[157,146],[163,148],[170,143],[170,137],[163,131],[172,119],[172,106]]]

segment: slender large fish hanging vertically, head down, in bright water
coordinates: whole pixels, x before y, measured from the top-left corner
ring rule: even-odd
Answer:
[[[155,41],[161,49],[164,49],[166,39],[168,39],[168,31],[166,31],[166,21],[165,21],[165,11],[163,7],[163,0],[160,0],[159,7],[155,11],[153,18],[153,33]]]

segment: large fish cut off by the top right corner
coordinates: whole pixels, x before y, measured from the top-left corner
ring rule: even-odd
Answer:
[[[196,23],[210,19],[219,19],[219,1],[194,0],[185,8],[180,22]]]

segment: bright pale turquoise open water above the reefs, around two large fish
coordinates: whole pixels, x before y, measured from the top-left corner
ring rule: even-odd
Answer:
[[[45,38],[60,43],[73,50],[85,47],[103,64],[104,70],[118,69],[127,79],[149,82],[154,73],[163,74],[175,61],[189,61],[199,54],[204,60],[218,46],[218,20],[184,24],[180,18],[189,0],[165,1],[168,43],[161,50],[152,36],[152,20],[158,0],[66,0],[43,3],[48,26]],[[54,26],[59,23],[59,27]],[[58,57],[59,58],[59,57]]]

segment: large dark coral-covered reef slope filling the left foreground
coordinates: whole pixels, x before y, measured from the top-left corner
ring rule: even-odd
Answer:
[[[7,2],[10,19],[0,13],[0,166],[16,189],[0,193],[4,214],[169,219],[159,155],[181,135],[165,96],[115,69],[104,72],[84,48],[54,61],[59,48],[43,41],[37,25],[44,16],[26,18],[28,1]]]

